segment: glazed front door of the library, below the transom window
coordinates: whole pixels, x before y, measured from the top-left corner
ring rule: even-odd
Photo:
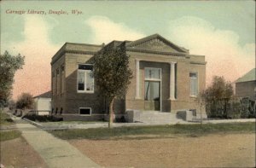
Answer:
[[[160,81],[145,81],[145,110],[160,111]]]

